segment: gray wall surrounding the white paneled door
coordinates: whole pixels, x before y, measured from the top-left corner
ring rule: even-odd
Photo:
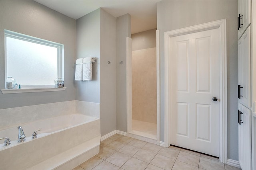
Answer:
[[[170,0],[157,3],[160,31],[160,141],[164,141],[164,32],[227,18],[227,158],[238,160],[237,0]]]

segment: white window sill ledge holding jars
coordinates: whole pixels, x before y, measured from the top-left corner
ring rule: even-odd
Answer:
[[[30,93],[30,92],[52,92],[52,91],[64,91],[66,87],[62,88],[21,88],[21,89],[2,89],[3,94],[10,93]]]

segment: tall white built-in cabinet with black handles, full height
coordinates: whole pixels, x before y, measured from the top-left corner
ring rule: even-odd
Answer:
[[[252,132],[256,132],[254,129],[256,121],[252,116],[254,114],[252,114],[251,106],[253,91],[251,88],[254,87],[251,82],[253,80],[251,69],[255,69],[251,68],[251,55],[254,56],[254,50],[251,47],[251,39],[254,40],[251,24],[256,23],[256,17],[252,18],[251,23],[251,14],[255,13],[255,11],[252,13],[252,10],[256,10],[255,7],[256,1],[254,0],[238,0],[238,154],[242,170],[252,170],[252,166],[255,170],[255,158],[252,160],[252,156],[255,157],[254,153],[256,153],[254,144],[256,137],[252,135]],[[255,33],[255,28],[253,33]],[[255,43],[253,44],[255,46]]]

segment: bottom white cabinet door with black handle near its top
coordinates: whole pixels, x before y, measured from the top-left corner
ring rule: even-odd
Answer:
[[[251,170],[251,110],[243,106],[242,104],[239,104],[238,109],[239,162],[242,170]]]

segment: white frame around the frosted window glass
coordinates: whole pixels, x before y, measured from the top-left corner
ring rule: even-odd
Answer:
[[[64,45],[63,44],[55,43],[55,42],[48,41],[45,39],[40,39],[37,37],[32,37],[30,35],[25,35],[22,33],[17,33],[14,31],[4,29],[4,68],[5,68],[4,82],[5,82],[5,84],[6,84],[6,79],[7,79],[7,51],[6,51],[6,49],[7,49],[6,38],[7,37],[19,39],[22,41],[28,41],[31,43],[46,45],[46,46],[50,46],[50,47],[56,47],[58,50],[58,53],[57,53],[57,77],[56,78],[61,77],[64,80]],[[22,89],[44,89],[44,88],[55,88],[55,85],[50,85],[50,84],[49,85],[27,85],[27,86],[21,85],[21,88]]]

